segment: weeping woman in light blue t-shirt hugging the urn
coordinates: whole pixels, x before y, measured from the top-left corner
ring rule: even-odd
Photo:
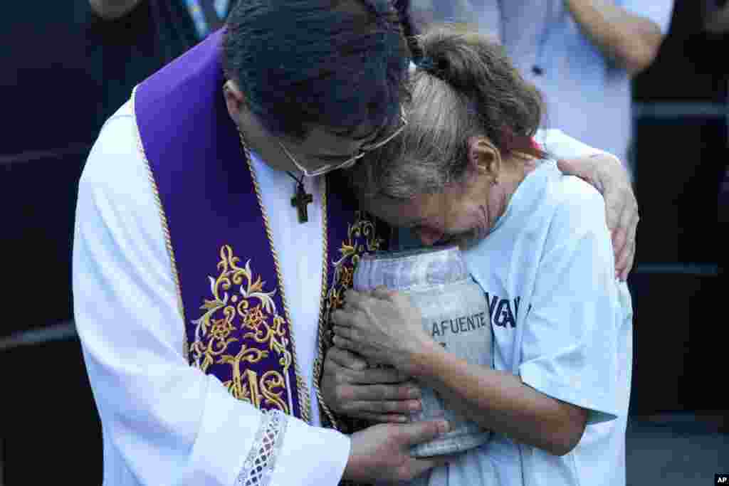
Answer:
[[[539,93],[499,47],[448,29],[420,45],[408,127],[352,179],[386,222],[464,250],[492,310],[494,369],[447,353],[386,290],[348,294],[335,345],[393,365],[496,433],[421,482],[624,485],[632,310],[604,201],[534,144]]]

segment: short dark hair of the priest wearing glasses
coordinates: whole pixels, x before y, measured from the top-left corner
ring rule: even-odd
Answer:
[[[276,136],[396,123],[408,97],[408,4],[238,0],[226,21],[225,74]]]

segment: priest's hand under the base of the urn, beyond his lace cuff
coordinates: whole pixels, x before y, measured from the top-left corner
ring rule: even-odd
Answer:
[[[448,432],[448,422],[436,420],[405,424],[383,423],[352,434],[349,460],[343,479],[355,482],[409,481],[425,471],[443,466],[448,456],[418,459],[410,446]]]

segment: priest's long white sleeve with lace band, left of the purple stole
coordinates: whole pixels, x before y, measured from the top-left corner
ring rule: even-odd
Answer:
[[[118,114],[104,126],[79,184],[74,236],[74,314],[104,430],[105,484],[338,484],[347,436],[262,414],[188,366],[135,130]]]

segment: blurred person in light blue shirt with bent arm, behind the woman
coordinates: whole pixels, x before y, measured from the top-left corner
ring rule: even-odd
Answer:
[[[543,128],[564,130],[630,165],[631,77],[658,54],[673,4],[674,0],[414,0],[413,15],[469,23],[496,36],[523,76],[544,94]]]

